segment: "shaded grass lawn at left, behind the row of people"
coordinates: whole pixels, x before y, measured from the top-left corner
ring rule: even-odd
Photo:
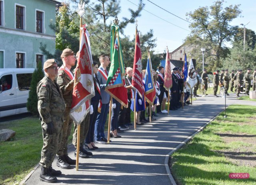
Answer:
[[[131,112],[133,122],[134,112]],[[11,129],[15,137],[0,143],[0,185],[18,184],[40,161],[43,146],[41,122],[38,117],[0,123],[0,129]],[[133,128],[130,128],[133,129]],[[74,125],[68,138],[72,143]],[[105,131],[108,130],[108,116]]]

